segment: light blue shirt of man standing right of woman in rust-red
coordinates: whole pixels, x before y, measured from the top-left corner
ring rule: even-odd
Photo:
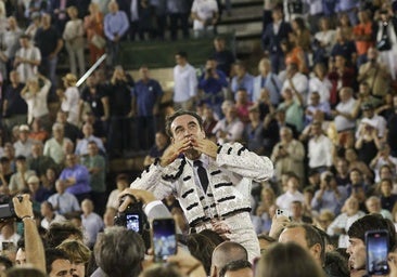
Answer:
[[[115,14],[108,13],[105,15],[104,29],[108,40],[114,40],[115,35],[123,37],[129,28],[127,14],[118,11]]]

